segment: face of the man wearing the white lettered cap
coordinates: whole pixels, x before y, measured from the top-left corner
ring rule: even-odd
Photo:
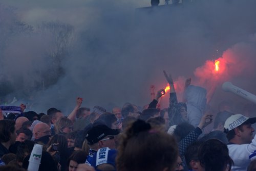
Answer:
[[[253,132],[255,130],[251,127],[251,124],[242,125],[240,128],[240,138],[243,144],[251,143],[253,139]]]

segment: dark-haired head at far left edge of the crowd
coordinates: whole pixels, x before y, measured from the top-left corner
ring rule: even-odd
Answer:
[[[0,120],[0,142],[8,142],[10,133],[15,131],[15,121],[10,119]]]

